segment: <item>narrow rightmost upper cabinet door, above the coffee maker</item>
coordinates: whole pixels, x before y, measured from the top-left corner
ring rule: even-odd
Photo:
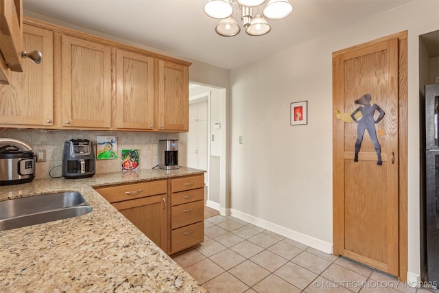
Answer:
[[[158,130],[189,130],[189,68],[158,60]]]

